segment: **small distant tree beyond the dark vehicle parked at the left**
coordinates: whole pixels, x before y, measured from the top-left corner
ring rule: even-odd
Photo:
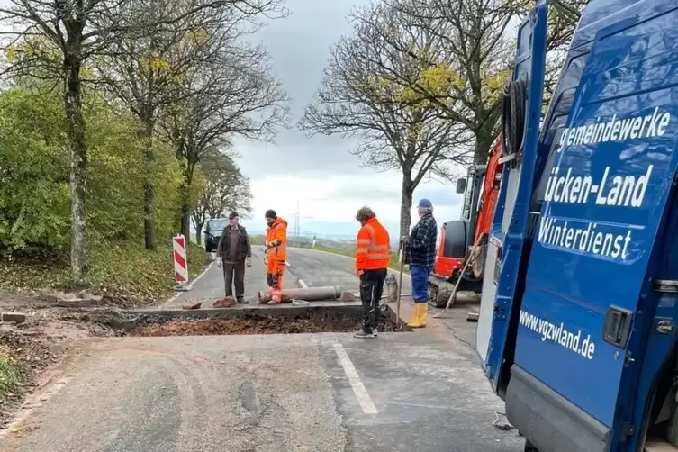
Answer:
[[[240,173],[233,160],[220,153],[211,154],[201,163],[205,176],[203,195],[192,217],[198,243],[204,224],[211,218],[221,218],[227,212],[248,216],[252,212],[249,179]]]

